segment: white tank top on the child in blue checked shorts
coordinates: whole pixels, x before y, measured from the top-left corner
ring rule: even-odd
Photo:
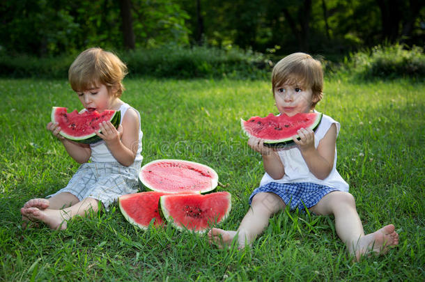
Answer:
[[[325,136],[327,130],[330,129],[330,126],[334,124],[337,126],[337,136],[341,125],[330,116],[323,115],[320,125],[318,126],[316,132],[314,132],[314,147],[317,148],[318,143]],[[320,185],[326,185],[334,187],[340,191],[348,191],[348,183],[341,178],[339,175],[336,165],[337,165],[337,148],[335,147],[335,156],[334,156],[334,165],[332,166],[332,171],[324,180],[320,180],[310,172],[309,167],[307,166],[304,158],[301,155],[300,149],[296,146],[290,148],[285,148],[277,152],[282,164],[285,167],[285,175],[283,178],[275,180],[265,173],[263,179],[261,180],[260,186],[266,185],[269,182],[278,182],[278,183],[288,183],[288,182],[313,182]]]

